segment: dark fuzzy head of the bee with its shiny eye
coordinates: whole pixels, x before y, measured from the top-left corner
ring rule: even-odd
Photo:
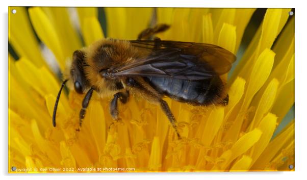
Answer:
[[[87,66],[85,62],[85,53],[82,50],[76,50],[72,55],[72,63],[70,67],[70,80],[73,83],[74,90],[79,94],[83,94],[90,86],[86,79],[84,68]]]

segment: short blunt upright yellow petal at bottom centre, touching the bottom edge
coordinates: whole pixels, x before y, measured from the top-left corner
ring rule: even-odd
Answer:
[[[160,147],[160,139],[158,136],[154,137],[151,145],[150,158],[148,161],[148,168],[151,170],[159,170],[161,167],[161,147]]]

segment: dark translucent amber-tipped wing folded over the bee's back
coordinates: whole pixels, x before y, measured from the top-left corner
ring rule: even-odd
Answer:
[[[150,40],[131,41],[131,44],[139,57],[110,69],[111,76],[203,80],[227,73],[236,60],[231,52],[212,44]]]

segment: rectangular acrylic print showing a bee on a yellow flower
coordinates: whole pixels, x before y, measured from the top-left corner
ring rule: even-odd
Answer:
[[[9,7],[8,172],[294,171],[294,17]]]

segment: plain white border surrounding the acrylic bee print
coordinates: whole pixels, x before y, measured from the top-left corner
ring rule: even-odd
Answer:
[[[306,143],[304,142],[306,135],[306,116],[303,114],[306,111],[306,6],[303,6],[303,1],[298,0],[185,0],[185,1],[171,1],[171,0],[154,0],[154,1],[135,1],[135,0],[11,0],[1,1],[1,27],[0,35],[2,39],[0,55],[1,55],[1,96],[2,102],[0,103],[0,114],[2,120],[2,133],[1,133],[1,147],[0,155],[2,162],[0,163],[0,171],[4,179],[20,179],[20,176],[28,176],[31,179],[55,179],[55,178],[75,178],[75,179],[157,179],[157,178],[174,178],[186,179],[190,176],[195,179],[301,179],[305,177],[304,167],[306,167]],[[93,6],[93,7],[240,7],[240,8],[295,8],[295,172],[207,172],[207,173],[109,173],[109,174],[8,174],[8,6]],[[286,42],[285,42],[286,43]],[[31,177],[30,177],[31,176]],[[21,177],[22,178],[22,177]]]

